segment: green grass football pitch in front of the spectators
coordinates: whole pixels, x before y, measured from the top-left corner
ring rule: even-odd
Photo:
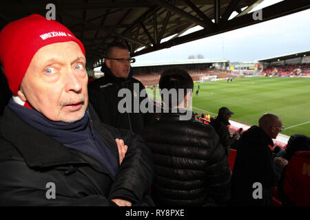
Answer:
[[[147,93],[160,100],[159,89],[147,89]],[[249,77],[234,78],[229,83],[195,83],[192,104],[200,115],[207,112],[216,116],[220,107],[228,107],[234,111],[232,120],[249,125],[257,125],[264,113],[274,113],[282,118],[282,134],[310,136],[310,78]]]

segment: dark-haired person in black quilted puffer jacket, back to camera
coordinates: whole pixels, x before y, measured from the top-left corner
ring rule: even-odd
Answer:
[[[230,197],[231,170],[216,131],[181,108],[189,106],[193,86],[183,69],[163,72],[159,87],[169,113],[161,113],[160,120],[141,133],[154,156],[152,197],[157,206],[218,206]],[[167,102],[163,89],[189,93],[169,95]],[[191,117],[184,120],[189,112]]]

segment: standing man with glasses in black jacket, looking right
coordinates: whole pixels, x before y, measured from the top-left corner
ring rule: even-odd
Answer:
[[[130,63],[134,61],[125,45],[109,45],[105,52],[105,63],[101,67],[105,75],[88,85],[88,93],[90,103],[102,122],[141,133],[145,126],[154,121],[154,114],[141,112],[140,104],[147,94],[141,95],[144,85],[132,78],[134,72]],[[129,91],[129,94],[125,94],[124,98],[121,91]],[[123,103],[124,99],[127,106]]]

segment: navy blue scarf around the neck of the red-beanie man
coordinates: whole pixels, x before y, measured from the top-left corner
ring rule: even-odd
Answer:
[[[81,120],[67,123],[49,120],[39,111],[23,107],[14,102],[12,98],[8,106],[30,126],[61,142],[64,146],[81,151],[101,162],[113,176],[118,172],[118,162],[112,151],[92,129],[92,120],[88,110]]]

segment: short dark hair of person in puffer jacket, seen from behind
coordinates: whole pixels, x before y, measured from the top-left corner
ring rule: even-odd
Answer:
[[[179,91],[179,89],[184,89],[184,96],[186,95],[186,89],[192,89],[194,88],[194,82],[191,76],[184,70],[180,68],[170,68],[166,69],[163,74],[161,74],[161,78],[159,79],[159,89],[167,89],[168,91],[170,89],[176,89],[176,91]],[[177,92],[177,98],[176,102],[172,104],[172,95],[169,94],[169,103],[165,103],[169,109],[172,107],[175,107],[176,105],[180,104],[180,102],[183,101],[184,96],[180,97],[178,96]],[[161,94],[161,98],[165,102],[163,98],[163,94]],[[180,99],[180,100],[179,100]]]

